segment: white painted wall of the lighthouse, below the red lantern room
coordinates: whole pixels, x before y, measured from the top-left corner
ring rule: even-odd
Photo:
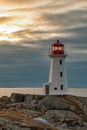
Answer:
[[[65,57],[66,55],[50,55],[49,83],[47,83],[49,85],[49,95],[67,94],[68,92]],[[60,60],[62,60],[62,65],[60,65]],[[63,72],[62,77],[60,77],[60,72]],[[63,84],[63,90],[60,88],[61,84]],[[57,90],[54,88],[57,88]],[[46,94],[45,91],[44,85],[44,94]]]

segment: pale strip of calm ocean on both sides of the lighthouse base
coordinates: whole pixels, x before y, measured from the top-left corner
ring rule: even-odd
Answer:
[[[43,94],[43,88],[0,88],[0,97],[10,96],[12,93]],[[68,94],[87,97],[87,88],[69,88]]]

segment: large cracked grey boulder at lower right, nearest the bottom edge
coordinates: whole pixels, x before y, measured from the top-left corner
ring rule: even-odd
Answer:
[[[54,125],[66,124],[67,127],[83,126],[83,120],[77,114],[66,110],[49,110],[43,118]]]

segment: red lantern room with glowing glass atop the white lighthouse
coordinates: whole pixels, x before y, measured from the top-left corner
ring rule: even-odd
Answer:
[[[52,54],[64,54],[64,45],[59,40],[57,40],[56,43],[52,44]]]

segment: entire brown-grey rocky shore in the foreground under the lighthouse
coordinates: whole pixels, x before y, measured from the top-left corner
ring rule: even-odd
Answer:
[[[0,130],[86,129],[86,97],[13,93],[0,98]]]

